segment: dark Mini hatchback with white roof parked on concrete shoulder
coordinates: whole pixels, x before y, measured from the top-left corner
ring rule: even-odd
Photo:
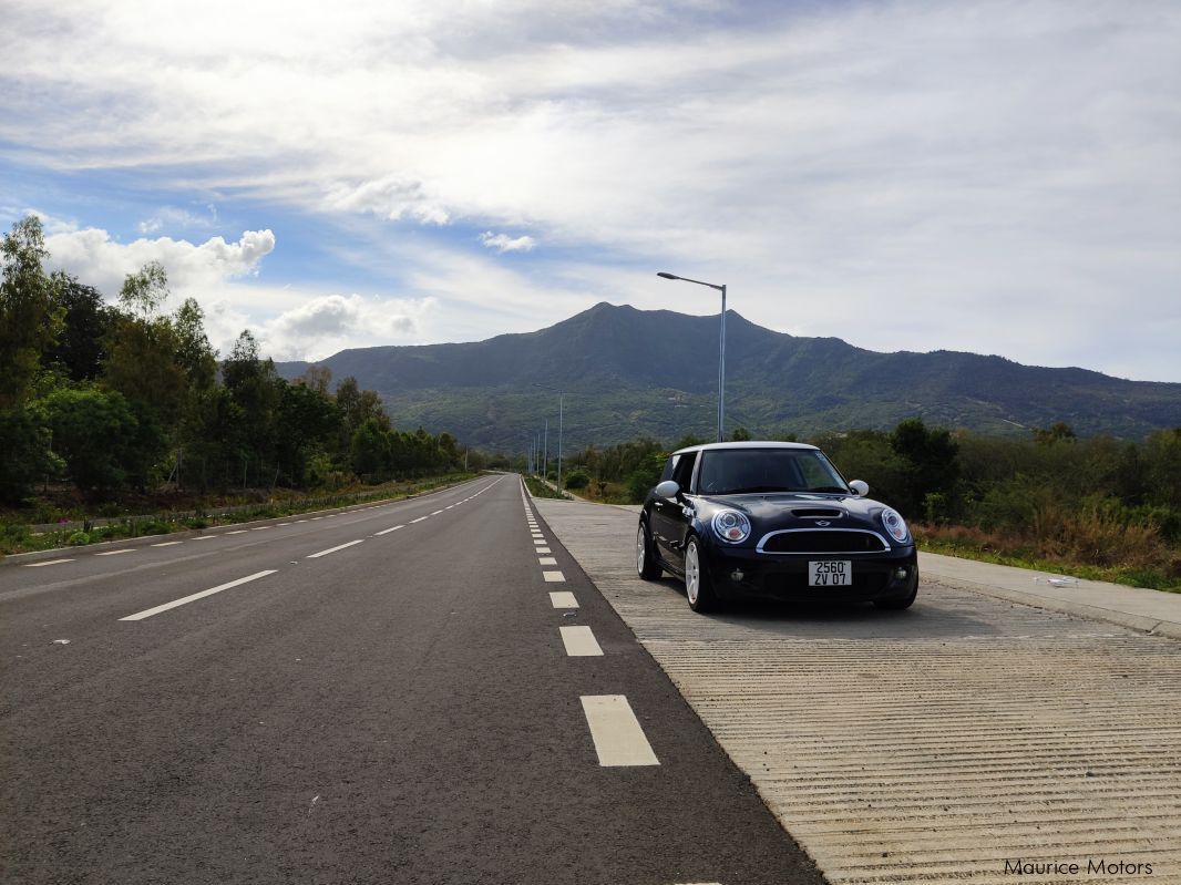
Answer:
[[[919,588],[914,539],[868,492],[816,446],[681,448],[640,513],[640,577],[684,577],[694,611],[742,597],[905,609]]]

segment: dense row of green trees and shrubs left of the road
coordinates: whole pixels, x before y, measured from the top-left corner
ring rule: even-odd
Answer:
[[[195,300],[165,310],[157,263],[107,304],[47,256],[35,217],[4,237],[0,552],[398,497],[485,466],[449,433],[397,431],[352,378],[280,378],[249,330],[220,360]]]

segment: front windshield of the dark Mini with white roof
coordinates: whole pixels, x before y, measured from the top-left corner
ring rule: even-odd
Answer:
[[[706,450],[697,487],[702,494],[849,493],[828,458],[811,448]]]

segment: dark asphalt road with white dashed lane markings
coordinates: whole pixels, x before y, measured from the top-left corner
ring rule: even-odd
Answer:
[[[529,513],[485,477],[0,565],[0,881],[822,881]]]

